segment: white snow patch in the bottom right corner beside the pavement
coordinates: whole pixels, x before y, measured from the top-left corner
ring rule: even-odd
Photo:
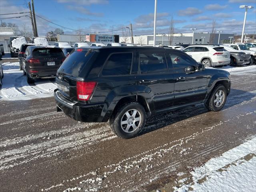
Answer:
[[[193,182],[180,188],[174,187],[174,192],[186,192],[189,188],[196,192],[255,191],[255,167],[256,137],[196,168],[190,173]]]

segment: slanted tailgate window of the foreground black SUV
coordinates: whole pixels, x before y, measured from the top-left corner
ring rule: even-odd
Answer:
[[[86,63],[95,54],[95,51],[93,51],[93,49],[84,49],[84,51],[73,50],[71,53],[64,60],[64,62],[58,69],[58,72],[72,76],[78,76]]]

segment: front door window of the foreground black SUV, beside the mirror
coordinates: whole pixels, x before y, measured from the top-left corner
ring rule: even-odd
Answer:
[[[178,53],[170,53],[169,56],[172,60],[172,66],[176,72],[184,72],[185,67],[196,65],[196,62],[192,60],[190,56]]]

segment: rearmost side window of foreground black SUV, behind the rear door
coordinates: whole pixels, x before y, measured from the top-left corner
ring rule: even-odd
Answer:
[[[114,53],[103,67],[103,76],[128,75],[132,68],[132,53]]]

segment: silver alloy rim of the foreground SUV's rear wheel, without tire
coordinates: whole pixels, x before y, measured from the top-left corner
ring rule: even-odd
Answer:
[[[141,114],[136,109],[128,110],[121,118],[121,128],[126,133],[136,131],[141,123]]]

